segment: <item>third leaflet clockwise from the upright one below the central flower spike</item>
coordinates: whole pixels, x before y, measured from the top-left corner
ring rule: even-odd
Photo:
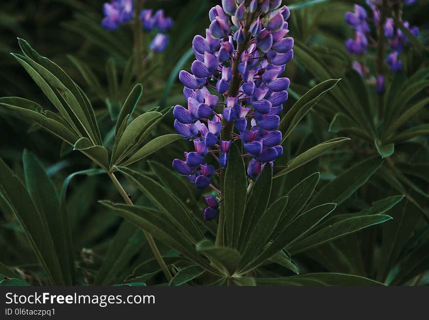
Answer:
[[[249,230],[249,239],[242,250],[240,265],[246,265],[252,261],[260,253],[260,250],[267,245],[287,204],[287,196],[280,198],[261,214],[255,226]]]

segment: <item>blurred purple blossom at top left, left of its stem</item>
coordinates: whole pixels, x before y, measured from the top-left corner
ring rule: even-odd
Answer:
[[[122,23],[133,18],[133,0],[111,0],[103,4],[103,28],[116,30]]]

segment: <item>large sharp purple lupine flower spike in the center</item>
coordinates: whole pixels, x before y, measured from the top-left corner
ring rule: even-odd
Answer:
[[[234,140],[243,143],[253,180],[283,153],[282,133],[276,129],[288,99],[290,80],[282,74],[293,57],[293,39],[286,37],[290,11],[280,4],[281,0],[222,0],[222,6],[209,12],[205,38],[198,35],[193,40],[192,74],[179,73],[187,108],[176,105],[173,114],[176,131],[194,141],[195,151],[185,152],[184,161],[175,159],[173,167],[196,188],[212,186],[212,177],[227,166]],[[221,168],[207,165],[207,155]],[[217,202],[209,200],[207,220],[217,212]]]

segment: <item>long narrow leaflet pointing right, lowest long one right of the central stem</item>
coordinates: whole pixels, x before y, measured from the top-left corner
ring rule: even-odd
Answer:
[[[381,224],[390,219],[392,219],[390,216],[382,214],[352,217],[350,219],[337,222],[331,226],[327,226],[295,244],[287,246],[287,250],[291,255],[296,255],[318,245],[323,245],[324,243],[334,239],[343,237],[369,226]]]

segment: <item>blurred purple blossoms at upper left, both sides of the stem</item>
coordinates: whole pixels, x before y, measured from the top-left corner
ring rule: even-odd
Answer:
[[[116,30],[121,24],[133,19],[133,0],[111,0],[103,5],[104,19],[101,25],[107,30]],[[166,31],[173,27],[173,19],[164,17],[164,10],[160,9],[153,14],[152,9],[140,11],[140,20],[145,31],[157,30],[149,49],[155,53],[162,53],[168,44]]]

